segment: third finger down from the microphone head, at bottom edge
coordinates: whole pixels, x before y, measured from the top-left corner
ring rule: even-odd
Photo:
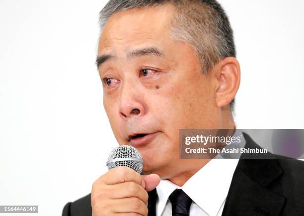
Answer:
[[[134,212],[146,216],[148,214],[147,205],[138,198],[130,197],[112,200],[114,213]]]

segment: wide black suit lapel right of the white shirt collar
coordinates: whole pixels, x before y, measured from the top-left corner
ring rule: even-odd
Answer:
[[[245,147],[261,148],[247,134]],[[262,154],[261,154],[262,155]],[[256,155],[255,155],[256,157]],[[273,159],[250,159],[251,155],[242,155],[234,171],[223,216],[279,216],[286,198],[269,190],[271,183],[281,178],[283,171]]]

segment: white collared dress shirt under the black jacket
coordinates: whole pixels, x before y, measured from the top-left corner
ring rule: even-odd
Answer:
[[[210,160],[182,187],[161,179],[156,187],[156,216],[172,216],[168,198],[175,189],[182,189],[192,199],[190,216],[221,216],[239,159],[220,158],[218,154],[217,159]]]

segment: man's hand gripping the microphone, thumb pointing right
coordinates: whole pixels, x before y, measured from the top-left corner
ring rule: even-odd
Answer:
[[[110,170],[93,183],[92,216],[147,216],[147,191],[159,181],[156,174],[141,176],[128,167]]]

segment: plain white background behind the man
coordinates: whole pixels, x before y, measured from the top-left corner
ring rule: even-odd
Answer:
[[[304,128],[304,1],[220,2],[241,64],[237,127]],[[106,172],[117,143],[94,64],[104,4],[0,0],[0,205],[58,216]]]

